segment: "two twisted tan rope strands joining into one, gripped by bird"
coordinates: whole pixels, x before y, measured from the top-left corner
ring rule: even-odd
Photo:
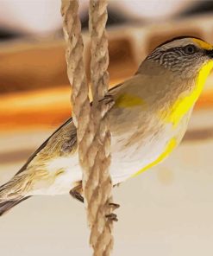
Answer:
[[[90,2],[91,107],[83,61],[78,0],[62,0],[61,6],[67,43],[67,74],[72,84],[72,116],[77,127],[79,163],[83,169],[85,207],[94,256],[110,255],[113,247],[111,216],[115,209],[111,203],[112,183],[109,174],[110,131],[107,112],[111,106],[104,100],[100,101],[107,93],[109,83],[106,8],[106,0]]]

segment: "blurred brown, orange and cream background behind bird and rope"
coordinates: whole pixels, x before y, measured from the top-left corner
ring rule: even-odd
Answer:
[[[88,1],[81,0],[88,79]],[[195,35],[213,43],[213,1],[112,0],[110,86],[135,73],[160,42]],[[0,0],[0,183],[71,116],[60,0]],[[172,157],[115,189],[113,255],[213,253],[213,75]],[[142,157],[142,156],[141,156]],[[1,254],[90,255],[83,205],[38,196],[0,219]]]

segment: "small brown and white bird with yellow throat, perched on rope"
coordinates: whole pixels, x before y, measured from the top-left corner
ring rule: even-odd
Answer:
[[[110,89],[113,185],[164,160],[183,138],[213,67],[213,46],[182,36],[160,44],[130,79]],[[69,193],[84,201],[72,118],[53,132],[16,176],[0,187],[0,214],[32,195]]]

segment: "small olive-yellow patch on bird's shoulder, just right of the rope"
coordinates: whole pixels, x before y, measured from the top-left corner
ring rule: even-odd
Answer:
[[[128,108],[133,106],[143,106],[145,105],[145,102],[139,96],[122,93],[122,95],[116,99],[115,105],[118,107]]]

